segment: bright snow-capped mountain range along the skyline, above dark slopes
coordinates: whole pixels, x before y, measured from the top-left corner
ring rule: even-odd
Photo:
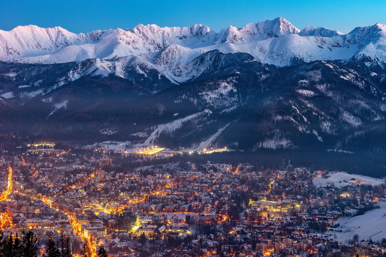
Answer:
[[[278,67],[311,61],[361,62],[386,68],[386,25],[357,27],[348,34],[323,27],[299,30],[283,18],[229,26],[220,32],[196,24],[158,27],[139,24],[133,29],[95,30],[74,34],[61,27],[19,26],[0,30],[0,60],[17,63],[67,63],[96,59],[96,74],[123,76],[128,60],[136,67],[156,69],[173,83],[202,73],[194,68],[203,53],[243,52],[256,61]],[[139,71],[140,72],[140,71]]]

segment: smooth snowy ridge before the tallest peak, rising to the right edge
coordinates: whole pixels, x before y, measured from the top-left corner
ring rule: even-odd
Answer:
[[[318,30],[318,29],[316,29]],[[304,33],[305,30],[302,30]],[[326,30],[313,33],[328,34]],[[262,63],[288,66],[298,61],[364,59],[366,65],[378,64],[386,68],[386,25],[358,28],[347,35],[322,37],[288,34],[261,41],[201,47],[201,52],[218,49],[223,53],[245,52]],[[332,35],[332,33],[330,33]]]

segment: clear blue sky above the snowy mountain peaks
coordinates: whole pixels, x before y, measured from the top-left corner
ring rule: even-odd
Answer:
[[[157,24],[190,26],[204,24],[218,30],[249,22],[283,17],[298,29],[307,25],[347,33],[355,27],[386,24],[386,1],[332,0],[185,0],[185,1],[19,1],[0,0],[0,29],[18,25],[61,26],[71,32]]]

